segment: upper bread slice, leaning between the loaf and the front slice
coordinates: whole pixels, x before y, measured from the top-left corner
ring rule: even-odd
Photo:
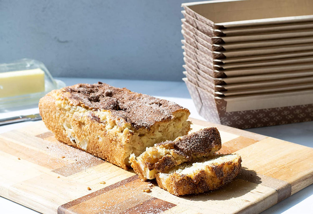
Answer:
[[[138,157],[131,154],[131,167],[141,180],[154,179],[156,173],[167,171],[173,166],[212,156],[221,146],[221,136],[217,128],[205,128],[146,148]]]

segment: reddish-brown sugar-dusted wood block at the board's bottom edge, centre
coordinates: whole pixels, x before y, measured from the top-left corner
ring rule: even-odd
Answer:
[[[162,213],[166,210],[171,209],[172,207],[176,206],[176,204],[172,204],[167,201],[163,201],[158,198],[151,198],[142,204],[137,204],[131,208],[128,208],[120,213],[151,213],[151,214],[158,214]]]

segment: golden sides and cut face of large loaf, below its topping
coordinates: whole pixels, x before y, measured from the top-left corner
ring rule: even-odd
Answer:
[[[80,84],[80,87],[84,85]],[[70,98],[71,95],[73,94],[66,89],[60,89],[54,90],[40,99],[39,112],[47,128],[54,132],[56,139],[103,158],[123,169],[129,168],[128,159],[132,152],[139,155],[145,150],[146,144],[151,146],[161,142],[165,137],[175,139],[181,134],[187,134],[190,130],[190,122],[186,121],[189,116],[187,109],[177,108],[172,112],[170,118],[154,120],[153,124],[152,120],[147,123],[137,121],[138,123],[134,127],[127,122],[130,120],[129,118],[132,118],[130,115],[128,115],[128,119],[125,119],[122,116],[119,117],[119,113],[115,114],[114,110],[88,108],[73,97]],[[139,97],[140,94],[136,96]],[[166,114],[169,114],[169,111]],[[142,118],[141,120],[145,119],[144,115]],[[136,119],[132,122],[135,123]],[[155,136],[156,130],[162,130],[163,126],[166,127],[171,123],[183,124],[183,127],[177,133],[170,133],[168,136],[158,138]],[[149,124],[150,126],[146,127]],[[167,130],[162,131],[167,133]],[[143,138],[139,137],[141,135],[146,136],[145,139],[150,141],[141,140]]]

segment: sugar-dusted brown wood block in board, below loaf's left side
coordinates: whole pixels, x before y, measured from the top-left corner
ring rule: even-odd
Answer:
[[[104,163],[105,160],[102,160],[100,158],[93,158],[92,160],[80,160],[76,161],[75,163],[71,163],[69,165],[60,167],[58,169],[53,170],[52,172],[57,173],[62,176],[70,176],[74,175],[75,173],[84,171],[86,169],[89,169],[93,166],[97,166],[99,164]]]

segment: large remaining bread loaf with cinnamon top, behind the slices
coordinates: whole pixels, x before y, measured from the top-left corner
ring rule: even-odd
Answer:
[[[53,90],[39,112],[58,140],[123,169],[131,153],[186,135],[191,124],[178,104],[101,82]]]

